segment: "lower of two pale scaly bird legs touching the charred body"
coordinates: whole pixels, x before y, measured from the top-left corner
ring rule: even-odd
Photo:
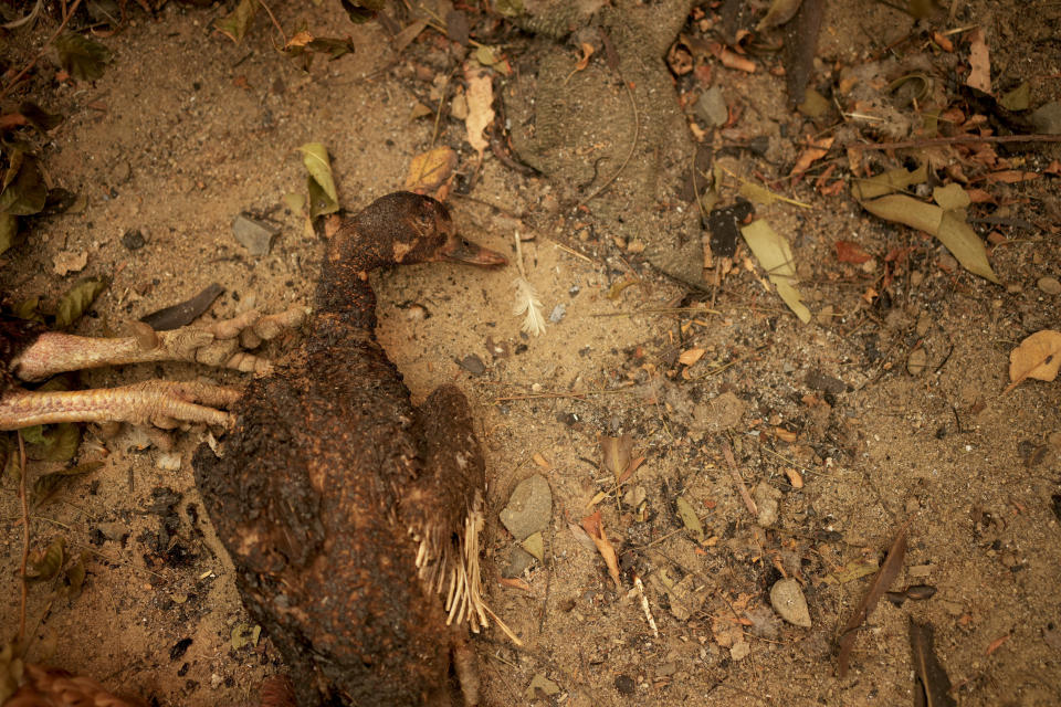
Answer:
[[[9,391],[0,399],[0,430],[55,422],[130,422],[175,428],[186,422],[227,425],[234,388],[197,381],[151,380],[120,388],[60,392]]]

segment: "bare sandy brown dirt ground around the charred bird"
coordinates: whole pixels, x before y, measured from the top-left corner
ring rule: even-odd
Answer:
[[[1058,99],[1057,3],[953,4],[957,17],[948,21],[944,11],[934,27],[981,24],[999,82],[1028,81],[1032,105]],[[323,243],[283,200],[305,189],[296,148],[327,146],[349,210],[400,188],[435,133],[433,116],[412,119],[413,107],[435,105],[435,77],[459,74],[464,50],[428,30],[396,53],[378,24],[351,25],[338,3],[274,10],[285,28],[349,34],[357,51],[317,60],[305,73],[274,51],[266,18],[237,45],[210,29],[223,8],[171,1],[156,19],[135,10],[123,32],[101,40],[114,60],[96,82],[56,83],[55,67],[42,62],[36,98],[66,118],[42,165],[53,186],[83,194],[87,205],[33,221],[27,242],[2,256],[9,304],[34,295],[54,302],[77,277],[109,276],[75,329],[98,336],[214,282],[225,294],[207,320],[311,302]],[[35,30],[32,48],[13,42],[11,63],[28,61],[53,29]],[[914,29],[882,3],[829,3],[816,81],[869,62]],[[536,42],[513,40],[516,76],[503,82],[533,77]],[[579,51],[560,46],[574,68]],[[917,43],[907,50],[928,52]],[[784,78],[765,71],[776,60],[757,61],[754,74],[713,65],[712,84],[743,113],[731,133],[705,140],[721,148],[767,136],[763,156],[719,150],[717,160],[745,178],[776,179],[813,128],[787,107]],[[622,89],[612,89],[622,107]],[[629,139],[601,134],[602,141]],[[702,289],[690,288],[654,271],[637,239],[593,222],[592,202],[584,217],[564,220],[565,184],[521,176],[490,151],[462,196],[475,169],[464,137],[462,123],[443,119],[434,143],[461,152],[454,218],[471,239],[508,254],[515,232],[533,236],[523,245],[527,278],[554,320],[539,337],[521,334],[514,266],[413,266],[374,283],[379,337],[414,401],[455,382],[479,421],[490,479],[487,601],[525,644],[517,648],[494,629],[475,640],[484,704],[911,704],[911,619],[934,626],[958,704],[1061,704],[1061,383],[1028,381],[1001,394],[1009,351],[1033,331],[1061,328],[1061,295],[1037,285],[1061,278],[1057,175],[976,183],[997,197],[976,213],[1009,219],[977,226],[1005,241],[990,255],[1001,285],[963,271],[928,236],[871,217],[847,189],[827,197],[812,179],[784,186],[811,208],[778,202],[755,213],[792,245],[815,315],[803,324],[764,287],[746,251],[747,267],[738,254],[717,286],[708,272]],[[1016,159],[1030,171],[1059,157],[1057,144],[1019,149]],[[883,169],[903,157],[871,159]],[[731,184],[723,199],[734,192]],[[691,207],[675,197],[668,208]],[[233,238],[240,212],[282,224],[267,255],[250,255]],[[146,244],[127,247],[129,231]],[[641,238],[651,245],[652,233]],[[839,262],[838,240],[858,242],[873,258]],[[63,253],[87,253],[86,266],[56,275]],[[864,297],[868,289],[878,296]],[[283,360],[290,346],[269,344],[265,352]],[[702,357],[681,362],[694,349]],[[907,360],[921,349],[926,365],[912,373]],[[484,370],[460,365],[470,356]],[[82,380],[107,387],[154,377],[242,380],[190,365]],[[73,558],[87,551],[88,574],[75,600],[52,584],[31,587],[31,661],[162,706],[256,704],[261,682],[283,671],[267,637],[254,640],[195,487],[190,457],[208,432],[180,431],[166,452],[143,431],[107,437],[87,429],[78,460],[103,467],[36,509],[31,531],[34,548],[62,536]],[[626,500],[607,495],[614,483],[598,443],[600,434],[622,433],[645,457],[622,489]],[[777,502],[765,527],[742,500],[725,445],[756,499]],[[534,474],[553,495],[545,559],[522,583],[503,583],[516,542],[497,514]],[[601,492],[597,507],[620,555],[621,590],[578,529]],[[679,498],[701,518],[703,538],[683,524]],[[19,614],[19,516],[8,482],[0,494],[4,640]],[[880,562],[907,523],[910,547],[892,589],[936,592],[902,605],[881,601],[840,678],[836,641],[871,578],[830,576]],[[785,623],[770,608],[779,568],[800,580],[810,627]],[[533,679],[538,688],[528,689]]]

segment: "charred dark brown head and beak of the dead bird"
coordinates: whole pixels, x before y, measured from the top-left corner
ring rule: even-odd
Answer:
[[[392,263],[452,261],[504,265],[495,251],[463,239],[443,203],[408,191],[377,199],[357,217],[358,231],[371,235],[381,260]]]

